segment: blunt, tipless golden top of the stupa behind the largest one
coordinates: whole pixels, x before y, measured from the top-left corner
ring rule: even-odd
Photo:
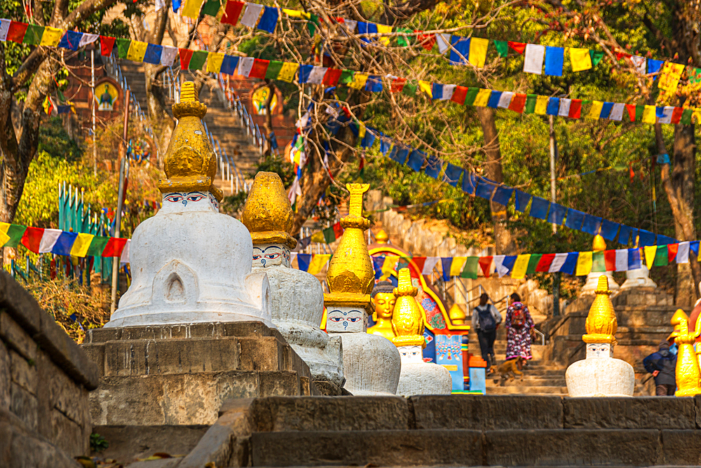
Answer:
[[[256,174],[243,205],[241,222],[250,231],[253,245],[284,244],[294,249],[297,240],[290,235],[294,213],[278,174]]]

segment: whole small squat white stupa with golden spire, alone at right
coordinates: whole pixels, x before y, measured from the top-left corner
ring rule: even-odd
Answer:
[[[587,357],[567,368],[565,380],[570,397],[632,397],[635,387],[633,366],[614,359],[613,346],[618,319],[611,303],[611,291],[605,275],[599,284],[587,315]]]

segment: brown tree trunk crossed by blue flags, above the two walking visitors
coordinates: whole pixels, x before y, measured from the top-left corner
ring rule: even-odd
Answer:
[[[489,179],[498,182],[504,181],[501,166],[501,147],[499,146],[499,134],[494,120],[494,109],[491,107],[477,107],[477,117],[482,125],[484,134],[484,153],[486,154],[485,175]],[[511,237],[511,232],[506,227],[508,213],[506,207],[496,202],[489,202],[491,209],[491,221],[494,223],[494,243],[497,254],[512,254],[516,246]]]

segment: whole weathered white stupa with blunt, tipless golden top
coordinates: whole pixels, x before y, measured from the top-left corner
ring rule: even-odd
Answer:
[[[273,323],[315,380],[341,387],[341,338],[329,337],[319,327],[324,315],[321,283],[306,271],[290,268],[290,249],[297,245],[290,235],[294,213],[278,174],[256,174],[241,221],[253,239],[253,271],[266,273],[270,282]]]

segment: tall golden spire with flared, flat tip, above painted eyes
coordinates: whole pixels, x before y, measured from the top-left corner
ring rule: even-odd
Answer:
[[[345,230],[329,263],[326,274],[329,294],[324,294],[324,303],[327,306],[360,306],[372,313],[375,308],[370,292],[375,272],[365,242],[365,230],[370,221],[362,217],[362,194],[369,184],[346,184],[346,188],[351,192],[350,213],[341,219]]]

